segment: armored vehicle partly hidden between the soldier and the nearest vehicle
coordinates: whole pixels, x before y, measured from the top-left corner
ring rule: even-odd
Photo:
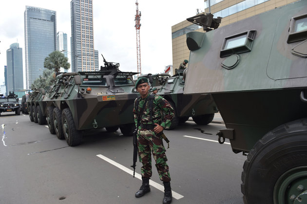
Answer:
[[[170,129],[175,128],[179,123],[186,122],[189,117],[198,125],[207,125],[212,122],[214,113],[217,112],[216,105],[210,94],[184,95],[186,70],[176,70],[176,74],[145,74],[139,77],[146,77],[156,88],[156,94],[163,96],[175,110],[175,117]],[[205,108],[204,108],[205,107]]]

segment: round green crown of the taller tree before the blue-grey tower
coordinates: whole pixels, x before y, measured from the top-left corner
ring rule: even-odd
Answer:
[[[56,50],[45,58],[44,67],[58,73],[61,67],[68,70],[70,68],[70,63],[68,62],[68,58],[65,57],[63,53]]]

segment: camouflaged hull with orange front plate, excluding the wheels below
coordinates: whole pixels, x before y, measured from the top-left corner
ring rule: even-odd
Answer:
[[[69,108],[77,130],[133,124],[134,99],[139,95],[134,92],[132,78],[136,73],[123,73],[117,67],[59,74],[43,102],[60,110]],[[81,77],[79,86],[74,81],[76,75]]]

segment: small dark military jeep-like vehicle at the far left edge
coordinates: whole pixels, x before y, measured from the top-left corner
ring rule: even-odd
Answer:
[[[20,115],[19,99],[18,95],[9,92],[7,96],[0,94],[0,115],[1,112],[14,112],[16,115]]]

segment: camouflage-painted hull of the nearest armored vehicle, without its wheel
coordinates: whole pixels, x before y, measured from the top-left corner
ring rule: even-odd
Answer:
[[[184,94],[211,93],[226,128],[233,129],[234,152],[248,152],[269,130],[307,117],[307,103],[300,99],[307,87],[307,30],[301,24],[300,34],[291,31],[296,19],[306,23],[306,11],[307,1],[301,0],[187,34]],[[243,34],[249,35],[245,41],[235,40]]]

